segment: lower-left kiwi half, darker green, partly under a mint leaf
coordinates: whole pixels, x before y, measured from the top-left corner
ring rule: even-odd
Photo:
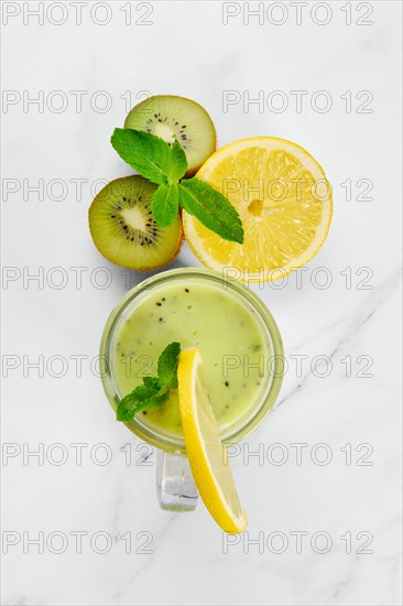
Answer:
[[[140,175],[111,181],[94,198],[89,229],[99,252],[118,266],[150,270],[172,261],[182,244],[179,216],[161,228],[151,213],[156,185]]]

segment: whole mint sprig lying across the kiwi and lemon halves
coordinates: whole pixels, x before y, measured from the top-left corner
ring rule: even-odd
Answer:
[[[199,178],[183,178],[187,160],[177,139],[170,145],[150,132],[117,128],[110,142],[124,162],[159,185],[151,210],[160,227],[172,225],[182,206],[225,240],[243,242],[242,223],[229,199]]]

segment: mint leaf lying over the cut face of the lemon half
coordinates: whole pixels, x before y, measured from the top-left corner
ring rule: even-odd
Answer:
[[[241,219],[229,199],[205,181],[193,177],[179,183],[179,203],[186,213],[225,240],[243,242]]]

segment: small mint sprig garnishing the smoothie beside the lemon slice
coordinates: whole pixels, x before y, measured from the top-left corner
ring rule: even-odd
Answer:
[[[143,410],[161,407],[170,396],[170,389],[177,388],[177,365],[181,344],[171,343],[159,358],[157,377],[143,377],[143,385],[124,396],[117,408],[117,421],[131,421]]]

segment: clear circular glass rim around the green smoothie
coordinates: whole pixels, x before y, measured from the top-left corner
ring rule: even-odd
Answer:
[[[225,279],[220,273],[208,270],[204,268],[177,268],[152,275],[146,278],[130,291],[128,291],[124,296],[119,301],[119,303],[113,307],[110,313],[107,323],[104,328],[102,338],[100,343],[100,370],[101,370],[101,380],[105,393],[111,404],[112,409],[117,409],[119,402],[119,396],[113,386],[112,379],[112,350],[111,345],[113,342],[115,329],[117,328],[120,317],[123,314],[124,310],[132,303],[132,301],[143,293],[146,290],[153,289],[161,283],[165,283],[171,279],[177,278],[202,278],[207,279],[207,281],[218,282],[221,285],[225,283],[226,289],[231,290],[240,299],[246,299],[247,302],[254,309],[254,311],[260,316],[260,320],[264,324],[268,335],[271,340],[273,348],[273,360],[270,374],[270,386],[265,393],[261,396],[262,402],[257,407],[255,413],[251,419],[247,421],[243,426],[238,428],[232,433],[225,435],[225,443],[236,443],[244,437],[247,437],[252,431],[254,431],[258,425],[263,421],[263,419],[269,414],[273,408],[276,398],[279,396],[281,385],[283,381],[284,374],[284,349],[283,342],[280,335],[277,324],[265,306],[265,304],[259,299],[257,294],[249,290],[248,286],[242,284],[237,280]],[[183,437],[172,437],[167,439],[157,433],[156,430],[146,428],[139,423],[137,418],[133,421],[124,422],[124,425],[141,440],[144,440],[149,444],[162,448],[167,452],[174,452],[176,454],[185,454],[185,443]]]

